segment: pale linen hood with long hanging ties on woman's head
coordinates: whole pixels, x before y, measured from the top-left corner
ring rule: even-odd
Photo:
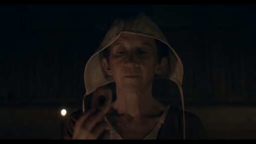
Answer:
[[[180,90],[182,109],[183,109],[183,138],[185,139],[185,115],[184,98],[182,91],[183,65],[182,62],[166,40],[159,27],[145,14],[138,13],[128,19],[117,18],[106,33],[99,48],[87,61],[84,70],[84,83],[86,93],[83,97],[82,109],[85,111],[84,98],[94,92],[98,87],[114,82],[112,76],[108,76],[102,67],[102,52],[109,47],[122,33],[143,35],[159,40],[169,48],[168,67],[162,75],[157,75],[155,79],[169,79],[177,84]]]

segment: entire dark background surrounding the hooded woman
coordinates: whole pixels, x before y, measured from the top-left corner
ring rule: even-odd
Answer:
[[[138,11],[180,56],[185,109],[208,138],[256,138],[256,5],[0,5],[0,138],[61,138],[87,60],[117,16]],[[180,106],[170,87],[157,98]]]

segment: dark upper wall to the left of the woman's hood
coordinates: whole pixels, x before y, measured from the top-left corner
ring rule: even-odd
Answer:
[[[87,60],[116,16],[129,13],[119,11],[137,8],[126,7],[0,6],[0,99],[80,98]]]

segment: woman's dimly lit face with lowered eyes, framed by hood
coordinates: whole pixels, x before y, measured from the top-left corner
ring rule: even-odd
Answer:
[[[157,74],[157,57],[155,39],[123,33],[110,46],[106,72],[112,75],[117,88],[125,92],[145,90],[151,88]]]

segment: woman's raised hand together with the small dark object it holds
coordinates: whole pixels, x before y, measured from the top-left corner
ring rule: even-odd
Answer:
[[[93,92],[92,108],[83,113],[76,121],[72,139],[108,139],[109,131],[105,128],[104,113],[110,107],[112,91],[98,88]]]

